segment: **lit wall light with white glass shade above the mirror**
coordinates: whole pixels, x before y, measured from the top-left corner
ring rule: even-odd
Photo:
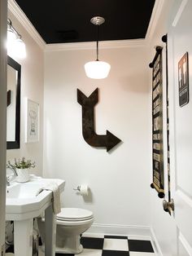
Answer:
[[[26,48],[20,33],[14,29],[10,19],[7,20],[7,55],[20,59],[26,57]]]

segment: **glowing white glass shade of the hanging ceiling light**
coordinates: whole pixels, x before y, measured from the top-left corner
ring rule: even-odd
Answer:
[[[103,79],[108,76],[111,65],[107,62],[94,60],[85,64],[86,76],[93,79]]]

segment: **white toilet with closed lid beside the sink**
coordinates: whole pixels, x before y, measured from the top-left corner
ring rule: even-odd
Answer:
[[[56,253],[80,254],[83,246],[80,235],[94,222],[94,214],[89,210],[62,208],[57,214]],[[41,240],[45,241],[44,222],[38,220]]]

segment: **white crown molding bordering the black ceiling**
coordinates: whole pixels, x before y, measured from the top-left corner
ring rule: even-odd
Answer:
[[[161,15],[162,8],[166,0],[155,0],[153,7],[150,24],[146,31],[145,39],[128,39],[128,40],[114,40],[114,41],[103,41],[99,42],[101,48],[123,48],[123,47],[135,47],[135,46],[147,46],[155,32],[155,27]],[[41,38],[40,34],[34,28],[33,24],[28,20],[28,17],[24,14],[19,5],[14,0],[8,1],[8,11],[11,11],[12,15],[19,20],[20,24],[27,30],[29,35],[37,42],[38,46],[44,51],[62,51],[62,50],[85,50],[93,49],[95,42],[70,42],[70,43],[57,43],[57,44],[46,44]],[[19,31],[20,32],[20,31]]]

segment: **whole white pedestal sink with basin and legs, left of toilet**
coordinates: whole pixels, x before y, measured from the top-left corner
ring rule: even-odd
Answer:
[[[65,182],[61,179],[33,177],[28,183],[13,182],[7,187],[6,220],[14,221],[15,256],[32,256],[33,218],[45,211],[46,256],[55,256],[55,214],[52,210],[52,192],[41,190],[46,184],[55,182],[63,192]]]

